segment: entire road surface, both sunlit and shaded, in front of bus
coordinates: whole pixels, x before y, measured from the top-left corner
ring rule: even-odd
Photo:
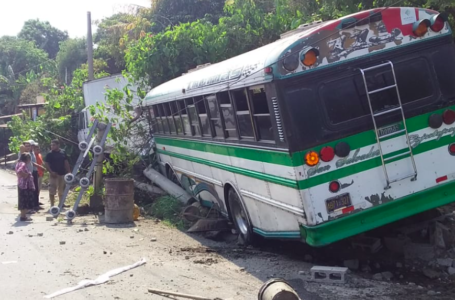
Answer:
[[[103,224],[102,216],[86,216],[67,225],[46,221],[44,211],[33,215],[32,223],[18,222],[16,178],[4,170],[0,195],[0,294],[5,300],[39,299],[141,258],[147,260],[144,266],[55,299],[169,299],[148,293],[148,288],[155,288],[252,300],[265,281],[277,277],[286,279],[302,300],[455,298],[450,277],[430,280],[417,271],[413,274],[413,262],[382,250],[374,256],[354,252],[347,242],[311,249],[297,242],[266,241],[258,248],[243,248],[234,236],[215,241],[152,219],[112,226]],[[48,203],[47,195],[41,197]],[[341,265],[352,258],[361,266],[349,272],[347,283],[308,280],[313,265]],[[403,269],[396,267],[400,261]],[[394,278],[372,278],[385,271]]]

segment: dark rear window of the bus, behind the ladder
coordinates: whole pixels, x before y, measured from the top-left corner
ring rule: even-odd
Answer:
[[[395,74],[403,105],[433,95],[432,73],[425,59],[413,59],[395,64]],[[390,68],[368,72],[366,81],[369,91],[394,84]],[[340,124],[370,115],[365,86],[360,73],[323,83],[320,86],[319,94],[331,124]],[[372,94],[370,98],[374,112],[398,105],[395,89]]]

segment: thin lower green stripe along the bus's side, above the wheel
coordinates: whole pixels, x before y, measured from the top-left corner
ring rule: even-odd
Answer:
[[[195,163],[207,165],[207,166],[218,168],[218,169],[225,170],[225,171],[228,171],[228,172],[237,173],[237,174],[244,175],[244,176],[247,176],[247,177],[252,177],[252,178],[259,179],[259,180],[264,180],[264,181],[267,181],[267,182],[272,182],[272,183],[276,183],[276,184],[280,184],[280,185],[283,185],[283,186],[287,186],[287,187],[291,187],[291,188],[297,189],[297,181],[292,180],[292,179],[287,179],[287,178],[278,177],[278,176],[274,176],[274,175],[264,174],[264,173],[260,173],[260,172],[256,172],[256,171],[243,169],[243,168],[233,167],[233,166],[221,164],[221,163],[218,163],[218,162],[214,162],[214,161],[210,161],[210,160],[206,160],[206,159],[201,159],[201,158],[196,158],[196,157],[193,157],[193,156],[183,155],[183,154],[179,154],[179,153],[175,153],[175,152],[171,152],[171,151],[166,151],[166,150],[161,150],[161,149],[158,149],[157,151],[158,151],[158,153],[162,153],[162,154],[165,154],[165,155],[173,156],[173,157],[176,157],[176,158],[192,161],[192,162],[195,162]]]

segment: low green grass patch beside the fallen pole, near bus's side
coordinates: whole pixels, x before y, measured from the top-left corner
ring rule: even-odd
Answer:
[[[163,221],[169,227],[185,229],[185,221],[180,217],[183,204],[175,197],[162,196],[157,198],[151,205],[148,205],[148,213]]]

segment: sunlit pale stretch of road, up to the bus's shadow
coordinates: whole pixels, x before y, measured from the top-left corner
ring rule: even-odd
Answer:
[[[206,262],[206,254],[179,251],[179,244],[194,249],[200,244],[153,221],[109,228],[91,217],[79,218],[72,226],[63,222],[53,226],[56,222],[46,222],[41,214],[33,216],[31,224],[18,222],[15,182],[13,175],[0,170],[0,299],[42,299],[143,257],[145,266],[55,299],[168,299],[149,294],[149,287],[213,298],[257,298],[260,280],[222,258],[212,264]],[[88,225],[83,226],[82,220]],[[78,232],[85,228],[88,231]],[[193,262],[198,257],[202,263]]]

